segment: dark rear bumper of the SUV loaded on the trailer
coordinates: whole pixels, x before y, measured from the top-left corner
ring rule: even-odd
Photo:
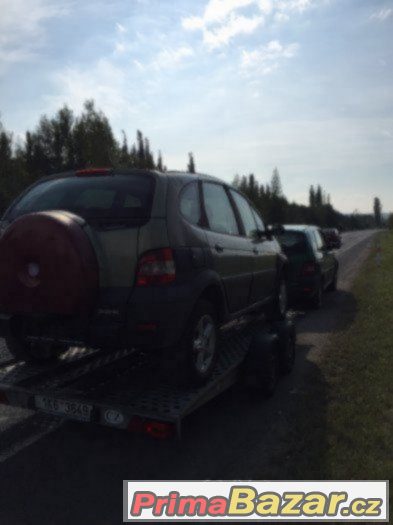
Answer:
[[[189,285],[176,285],[135,290],[121,309],[107,297],[89,319],[0,315],[0,336],[69,346],[167,348],[179,342],[197,298]]]

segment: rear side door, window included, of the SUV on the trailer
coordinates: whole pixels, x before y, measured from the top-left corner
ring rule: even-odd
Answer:
[[[206,237],[214,268],[225,288],[228,309],[234,313],[249,303],[254,258],[251,241],[241,236],[241,225],[226,188],[216,182],[203,182],[202,188]]]

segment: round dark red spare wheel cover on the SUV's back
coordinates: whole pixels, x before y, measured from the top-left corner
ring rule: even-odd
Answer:
[[[0,239],[0,309],[12,314],[88,314],[99,271],[83,220],[39,212],[13,222]]]

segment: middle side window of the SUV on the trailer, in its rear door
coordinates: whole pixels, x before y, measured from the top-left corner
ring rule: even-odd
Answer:
[[[239,235],[235,212],[221,184],[203,183],[203,198],[210,229],[217,233]]]

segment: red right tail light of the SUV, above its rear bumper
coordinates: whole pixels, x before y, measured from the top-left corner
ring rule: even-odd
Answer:
[[[169,284],[175,278],[175,260],[171,248],[152,250],[140,258],[136,272],[137,286]]]

